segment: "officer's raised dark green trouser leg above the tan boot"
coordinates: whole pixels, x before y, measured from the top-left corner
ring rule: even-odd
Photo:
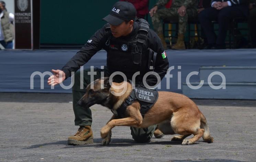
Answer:
[[[80,87],[81,71],[77,71],[75,73],[75,83],[72,89],[75,125],[91,125],[92,123],[91,109],[84,109],[81,106],[77,105],[79,99],[85,94],[87,85],[90,84],[92,81],[101,78],[100,69],[94,69],[94,71],[97,72],[97,75],[94,75],[92,80],[90,79],[91,76],[88,75],[88,71],[90,71],[90,69],[83,70],[84,83],[82,84],[82,88]],[[104,76],[108,76],[108,73],[104,72]]]

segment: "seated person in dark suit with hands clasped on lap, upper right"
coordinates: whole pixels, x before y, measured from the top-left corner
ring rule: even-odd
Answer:
[[[225,49],[226,33],[230,22],[235,17],[246,16],[248,16],[247,0],[212,0],[211,7],[204,9],[198,15],[208,41],[208,46],[205,49]],[[217,39],[215,39],[212,21],[219,23]]]

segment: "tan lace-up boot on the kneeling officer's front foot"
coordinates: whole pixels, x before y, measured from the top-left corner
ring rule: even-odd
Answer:
[[[68,137],[68,145],[85,145],[93,143],[91,126],[80,126],[74,136]]]

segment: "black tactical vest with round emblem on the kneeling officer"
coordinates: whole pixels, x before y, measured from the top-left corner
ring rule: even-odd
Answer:
[[[115,71],[123,72],[127,79],[132,79],[135,72],[140,71],[140,76],[136,77],[136,81],[141,80],[142,76],[149,71],[149,62],[152,61],[152,55],[149,55],[147,47],[147,35],[149,24],[144,19],[137,19],[139,29],[136,36],[129,41],[122,38],[114,38],[110,36],[105,43],[108,46],[107,51],[107,67],[111,73]],[[110,30],[110,25],[105,27]]]

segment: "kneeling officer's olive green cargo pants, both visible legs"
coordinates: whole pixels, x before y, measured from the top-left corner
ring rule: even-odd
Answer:
[[[75,125],[91,125],[92,123],[91,109],[84,109],[77,104],[78,100],[85,94],[85,89],[87,85],[90,84],[92,81],[101,78],[101,72],[102,72],[102,77],[110,76],[110,73],[107,70],[95,68],[94,73],[96,72],[96,75],[93,75],[93,80],[91,80],[91,75],[88,75],[88,71],[91,71],[91,70],[90,69],[83,70],[83,76],[84,76],[82,78],[84,81],[83,85],[80,85],[81,71],[77,71],[75,73],[75,78],[74,78],[75,83],[72,89],[73,110],[75,113]],[[82,86],[82,89],[80,88],[80,86]],[[131,135],[136,142],[139,142],[139,143],[148,142],[150,138],[153,136],[155,128],[156,128],[156,125],[152,125],[144,129],[131,127]]]

